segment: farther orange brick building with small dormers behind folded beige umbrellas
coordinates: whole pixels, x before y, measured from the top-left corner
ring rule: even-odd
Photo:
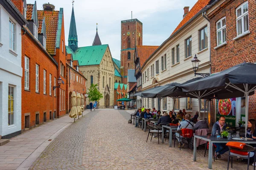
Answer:
[[[86,81],[87,79],[84,75],[79,71],[79,62],[77,60],[73,60],[72,54],[67,54],[67,69],[66,69],[66,79],[67,79],[67,92],[66,92],[66,111],[70,111],[72,104],[71,104],[71,95],[72,92],[75,91],[76,93],[86,94]],[[84,104],[85,104],[85,97],[84,97]]]

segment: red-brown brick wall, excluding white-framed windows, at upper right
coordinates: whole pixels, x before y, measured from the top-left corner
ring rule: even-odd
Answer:
[[[245,0],[226,0],[214,11],[208,14],[210,19],[211,36],[211,72],[217,73],[234,65],[246,62],[256,62],[256,3],[248,0],[249,31],[237,40],[236,36],[236,8]],[[216,22],[226,17],[226,42],[227,44],[214,49],[217,46]],[[249,96],[249,119],[256,119],[256,95]]]

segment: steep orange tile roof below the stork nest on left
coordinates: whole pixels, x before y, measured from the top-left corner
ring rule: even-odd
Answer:
[[[46,25],[46,49],[49,54],[55,54],[56,36],[58,29],[58,14],[59,11],[42,11],[38,10],[38,20],[43,20],[45,17]]]

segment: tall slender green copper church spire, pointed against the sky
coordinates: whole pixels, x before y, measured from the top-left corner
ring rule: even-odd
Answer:
[[[72,14],[70,20],[70,31],[68,34],[68,46],[73,50],[76,51],[78,48],[78,40],[77,40],[77,33],[76,33],[76,19],[74,14],[74,1],[72,1]]]

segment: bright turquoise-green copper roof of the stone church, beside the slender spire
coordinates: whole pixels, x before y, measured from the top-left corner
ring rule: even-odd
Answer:
[[[79,47],[75,52],[66,46],[67,53],[73,55],[73,60],[79,60],[79,65],[99,65],[108,44]]]

